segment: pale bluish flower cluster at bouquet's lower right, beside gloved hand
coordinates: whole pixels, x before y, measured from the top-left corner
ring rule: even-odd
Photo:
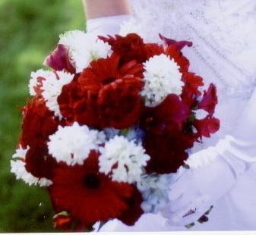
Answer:
[[[146,213],[157,213],[168,202],[168,181],[170,174],[143,174],[137,183],[144,202],[141,208]]]

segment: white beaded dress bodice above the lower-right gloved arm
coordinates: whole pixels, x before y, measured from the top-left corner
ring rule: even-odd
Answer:
[[[222,125],[218,134],[205,141],[207,146],[215,144],[235,127],[256,85],[256,1],[130,2],[141,35],[148,42],[160,42],[158,33],[193,42],[192,48],[183,49],[191,61],[191,71],[218,89],[216,116]]]

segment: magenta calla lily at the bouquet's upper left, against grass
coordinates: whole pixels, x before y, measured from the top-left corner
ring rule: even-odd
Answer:
[[[75,68],[69,59],[68,46],[58,44],[56,49],[51,52],[43,61],[43,65],[52,67],[55,71],[68,71],[74,74]]]

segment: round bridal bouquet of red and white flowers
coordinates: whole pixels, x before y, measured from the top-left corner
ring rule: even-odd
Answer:
[[[188,150],[218,130],[216,87],[201,92],[181,52],[191,42],[160,38],[67,32],[44,62],[52,70],[31,73],[11,172],[48,188],[56,227],[156,213]]]

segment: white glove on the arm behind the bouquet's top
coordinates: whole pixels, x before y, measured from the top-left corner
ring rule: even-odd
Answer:
[[[87,20],[87,33],[92,33],[96,36],[113,36],[119,33],[121,25],[130,18],[131,15],[122,14]]]

